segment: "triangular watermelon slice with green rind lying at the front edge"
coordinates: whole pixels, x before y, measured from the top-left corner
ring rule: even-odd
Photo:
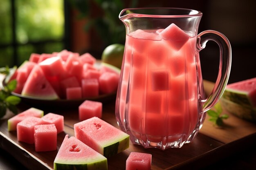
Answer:
[[[65,136],[54,159],[54,170],[107,170],[107,158],[75,137]]]

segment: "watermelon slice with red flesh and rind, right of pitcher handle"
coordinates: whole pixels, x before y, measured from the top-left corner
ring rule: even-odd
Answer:
[[[256,109],[256,77],[228,84],[223,98]]]

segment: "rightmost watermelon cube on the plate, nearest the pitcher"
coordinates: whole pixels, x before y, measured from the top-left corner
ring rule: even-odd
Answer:
[[[119,75],[111,72],[104,72],[99,77],[99,90],[103,94],[117,91]]]

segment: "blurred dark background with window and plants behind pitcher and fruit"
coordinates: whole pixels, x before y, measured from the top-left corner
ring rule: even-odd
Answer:
[[[19,66],[31,53],[63,49],[100,59],[106,46],[125,42],[119,20],[128,7],[180,7],[202,11],[199,31],[220,31],[232,46],[229,83],[256,77],[255,0],[1,0],[0,67]],[[219,48],[214,42],[200,52],[203,78],[215,81]]]

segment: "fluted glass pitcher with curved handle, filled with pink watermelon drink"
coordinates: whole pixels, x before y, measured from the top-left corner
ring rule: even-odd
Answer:
[[[231,69],[229,40],[217,31],[198,34],[202,13],[179,8],[124,9],[126,43],[115,116],[133,144],[181,148],[218,102]],[[208,40],[220,47],[218,78],[205,97],[199,52]]]

